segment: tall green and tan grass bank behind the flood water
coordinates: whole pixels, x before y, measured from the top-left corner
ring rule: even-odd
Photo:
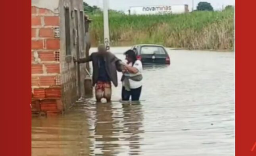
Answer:
[[[90,15],[92,45],[104,41],[103,15]],[[234,9],[179,15],[109,15],[112,45],[154,43],[187,49],[227,49],[234,45]]]

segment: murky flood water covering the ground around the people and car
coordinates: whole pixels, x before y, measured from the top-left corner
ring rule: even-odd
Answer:
[[[127,49],[111,51],[124,59]],[[170,66],[144,68],[140,104],[118,102],[119,82],[112,103],[33,117],[32,155],[233,156],[234,53],[168,51]]]

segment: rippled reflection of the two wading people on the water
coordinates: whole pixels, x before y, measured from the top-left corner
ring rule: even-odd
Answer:
[[[117,107],[118,106],[118,107]],[[121,106],[121,107],[120,107]],[[144,131],[139,104],[97,103],[89,105],[88,122],[92,154],[114,156],[127,146],[129,154],[140,154],[140,134]]]

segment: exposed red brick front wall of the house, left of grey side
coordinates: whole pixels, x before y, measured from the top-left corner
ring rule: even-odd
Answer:
[[[32,111],[38,111],[38,109],[45,112],[63,111],[60,84],[59,27],[60,17],[58,13],[32,6]]]

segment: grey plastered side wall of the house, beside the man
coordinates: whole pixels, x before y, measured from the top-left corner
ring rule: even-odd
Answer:
[[[81,95],[84,95],[85,64],[80,65],[80,79],[78,79],[77,64],[74,64],[72,57],[77,58],[77,45],[79,45],[80,57],[85,57],[84,43],[84,23],[81,22],[83,17],[83,0],[64,0],[60,3],[60,39],[61,39],[61,86],[62,86],[62,102],[65,109],[73,104],[79,96],[78,81],[81,85]],[[69,9],[69,28],[70,28],[70,54],[66,51],[66,31],[65,31],[65,8]],[[77,14],[76,14],[77,12]],[[76,21],[76,15],[78,16]],[[77,28],[78,26],[78,28]]]

